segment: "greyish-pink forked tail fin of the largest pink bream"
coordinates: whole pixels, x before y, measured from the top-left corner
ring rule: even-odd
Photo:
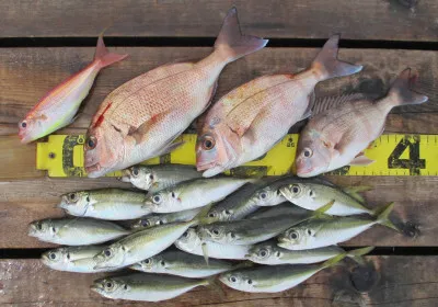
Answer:
[[[239,25],[238,10],[232,8],[222,24],[215,49],[230,62],[245,55],[255,53],[266,46],[268,39],[256,36],[242,35]]]

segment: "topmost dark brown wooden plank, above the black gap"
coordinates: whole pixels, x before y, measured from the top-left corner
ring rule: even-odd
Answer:
[[[157,0],[32,1],[0,3],[2,37],[216,37],[235,5],[245,33],[266,37],[436,41],[434,0]]]

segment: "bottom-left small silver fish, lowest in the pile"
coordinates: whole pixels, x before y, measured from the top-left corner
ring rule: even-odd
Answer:
[[[161,302],[174,298],[197,286],[207,286],[208,284],[208,280],[135,273],[126,276],[96,280],[91,289],[113,299]]]

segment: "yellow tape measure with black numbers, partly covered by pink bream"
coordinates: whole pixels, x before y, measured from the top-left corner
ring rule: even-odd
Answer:
[[[195,164],[196,135],[185,134],[177,140],[184,145],[175,151],[145,161],[145,164]],[[49,177],[85,177],[83,169],[83,135],[50,135],[38,143],[36,168]],[[281,175],[290,172],[297,150],[298,135],[287,135],[260,159],[231,170],[232,174]],[[342,175],[438,175],[438,135],[382,135],[365,154],[376,160],[367,167],[344,167],[331,172]],[[117,177],[119,172],[107,174]]]

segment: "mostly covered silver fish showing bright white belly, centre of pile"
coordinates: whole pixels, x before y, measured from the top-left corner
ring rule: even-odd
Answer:
[[[204,249],[203,245],[205,245]],[[182,251],[197,255],[208,255],[216,259],[244,260],[252,246],[220,245],[211,241],[203,242],[196,229],[189,228],[175,241],[175,247]],[[205,251],[207,254],[205,254]]]

